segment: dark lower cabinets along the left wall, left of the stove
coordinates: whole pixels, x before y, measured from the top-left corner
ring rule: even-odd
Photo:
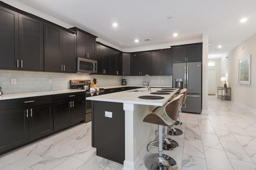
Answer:
[[[85,92],[0,100],[0,154],[84,121],[84,100]]]

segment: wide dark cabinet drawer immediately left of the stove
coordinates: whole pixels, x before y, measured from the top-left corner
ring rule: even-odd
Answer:
[[[85,92],[56,94],[53,96],[53,101],[54,102],[63,102],[63,101],[74,100],[76,98],[85,98]]]

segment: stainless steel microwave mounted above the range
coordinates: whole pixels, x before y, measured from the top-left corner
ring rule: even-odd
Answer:
[[[96,73],[97,72],[97,61],[78,57],[77,58],[77,72]]]

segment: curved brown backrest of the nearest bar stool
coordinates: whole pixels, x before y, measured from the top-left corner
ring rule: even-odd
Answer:
[[[164,107],[165,113],[174,121],[176,121],[176,119],[178,118],[180,104],[182,103],[183,97],[184,94],[179,94]]]

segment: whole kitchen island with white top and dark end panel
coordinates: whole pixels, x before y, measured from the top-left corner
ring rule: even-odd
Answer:
[[[124,170],[135,170],[146,154],[146,145],[154,138],[157,125],[143,119],[157,106],[164,106],[178,91],[150,94],[165,88],[138,88],[92,96],[92,147],[97,155],[124,164]],[[167,90],[167,89],[166,89]],[[139,96],[161,96],[163,99],[140,99]]]

